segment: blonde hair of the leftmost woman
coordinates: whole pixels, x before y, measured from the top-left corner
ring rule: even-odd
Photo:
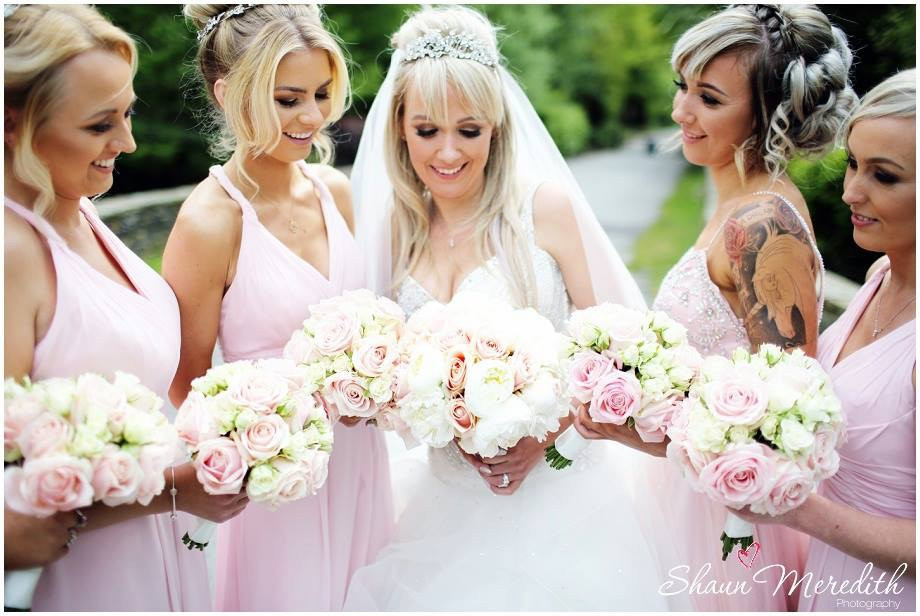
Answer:
[[[25,4],[3,20],[3,104],[19,112],[19,137],[14,146],[5,144],[4,152],[12,157],[16,178],[37,191],[32,209],[41,216],[54,207],[54,185],[32,142],[66,104],[60,92],[65,64],[93,49],[120,56],[132,74],[137,70],[134,41],[94,8]]]

